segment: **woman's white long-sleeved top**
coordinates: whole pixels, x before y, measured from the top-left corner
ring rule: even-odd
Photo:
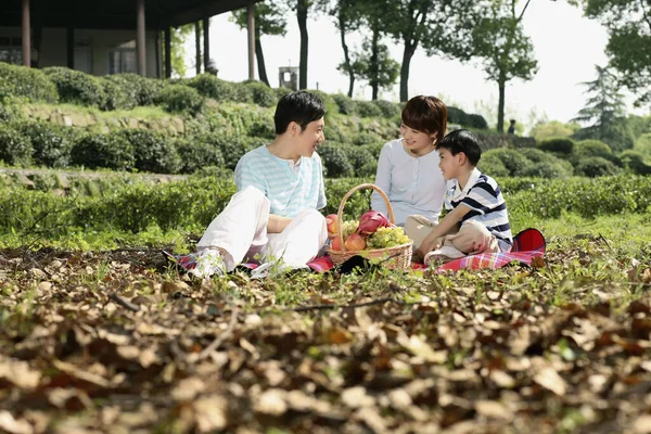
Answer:
[[[405,226],[407,216],[413,214],[438,221],[447,186],[438,168],[438,151],[412,156],[403,148],[403,139],[385,143],[378,162],[375,186],[388,196],[396,225]],[[371,208],[388,217],[386,204],[375,191]]]

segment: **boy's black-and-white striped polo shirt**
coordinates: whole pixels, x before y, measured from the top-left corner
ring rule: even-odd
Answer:
[[[465,188],[461,190],[459,182],[455,179],[448,195],[452,207],[464,204],[471,209],[463,216],[461,224],[471,219],[480,221],[497,238],[502,252],[511,250],[513,237],[507,203],[495,179],[475,168],[470,175]]]

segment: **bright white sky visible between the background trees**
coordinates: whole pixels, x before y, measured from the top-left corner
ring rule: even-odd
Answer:
[[[240,29],[230,17],[230,13],[225,13],[210,20],[210,56],[216,61],[219,78],[241,81],[248,78],[246,30]],[[580,84],[593,80],[595,65],[608,62],[604,53],[607,30],[597,21],[584,17],[580,9],[564,0],[532,0],[523,26],[525,34],[532,38],[539,68],[533,80],[515,79],[507,84],[506,117],[518,119],[527,129],[537,120],[570,122],[586,101],[585,87]],[[308,88],[346,93],[347,76],[336,71],[343,62],[343,51],[332,18],[312,16],[308,20]],[[194,59],[193,39],[189,38],[186,44],[188,59]],[[359,47],[361,36],[349,35],[347,40],[350,48]],[[399,62],[403,47],[390,39],[384,42],[392,58]],[[263,36],[261,44],[270,85],[278,87],[278,68],[298,66],[299,63],[295,15],[288,17],[284,37]],[[189,67],[188,73],[188,76],[193,75],[194,68]],[[429,58],[419,49],[411,60],[409,77],[409,95],[416,94],[437,95],[447,105],[483,114],[490,125],[496,124],[497,84],[485,79],[476,61],[462,64],[438,56]],[[370,100],[370,87],[357,81],[354,98]],[[398,84],[380,97],[398,101]],[[629,113],[649,113],[648,108],[635,108],[630,94],[626,94],[626,100]]]

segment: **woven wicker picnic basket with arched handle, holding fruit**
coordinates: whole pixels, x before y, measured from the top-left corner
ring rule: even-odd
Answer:
[[[352,258],[353,256],[360,255],[366,258],[386,259],[385,261],[383,261],[383,266],[392,268],[392,269],[401,269],[401,270],[408,269],[411,265],[411,246],[413,244],[412,241],[409,241],[406,244],[400,244],[400,245],[396,245],[393,247],[386,247],[386,248],[372,248],[372,250],[354,251],[354,252],[346,250],[346,245],[344,243],[344,234],[341,230],[343,228],[343,224],[344,224],[344,218],[343,218],[344,205],[346,205],[346,201],[348,200],[348,197],[350,197],[353,195],[353,193],[355,193],[356,191],[361,190],[361,189],[375,190],[382,196],[384,202],[386,203],[386,208],[388,209],[388,221],[391,221],[392,225],[395,225],[395,222],[396,222],[396,219],[393,214],[393,207],[391,206],[391,202],[388,201],[388,197],[386,196],[386,194],[382,191],[382,189],[380,187],[372,184],[372,183],[360,183],[359,186],[354,187],[342,199],[342,202],[340,203],[339,212],[336,214],[336,220],[337,220],[336,222],[337,222],[337,228],[339,228],[337,237],[339,237],[341,245],[342,245],[342,251],[334,251],[334,250],[332,250],[332,247],[328,248],[328,254],[330,255],[332,263],[334,265],[340,265],[340,264],[346,261],[347,259]]]

